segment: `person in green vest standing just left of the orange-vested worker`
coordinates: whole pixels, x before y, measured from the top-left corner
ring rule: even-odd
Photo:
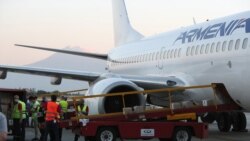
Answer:
[[[32,115],[32,121],[33,121],[33,126],[34,126],[34,131],[35,131],[35,137],[32,139],[32,141],[37,141],[38,139],[38,117],[37,114],[40,109],[40,103],[37,101],[37,96],[31,96],[31,115]]]

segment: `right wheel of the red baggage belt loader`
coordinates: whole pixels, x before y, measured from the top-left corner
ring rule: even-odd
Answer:
[[[172,141],[191,141],[191,131],[186,127],[178,127],[175,129]]]

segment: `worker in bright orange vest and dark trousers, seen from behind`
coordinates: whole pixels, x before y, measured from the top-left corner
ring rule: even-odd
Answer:
[[[58,136],[58,120],[61,112],[60,106],[56,103],[57,96],[52,95],[51,101],[47,102],[45,115],[45,133],[43,141],[47,141],[48,134],[50,134],[51,141],[59,141]]]

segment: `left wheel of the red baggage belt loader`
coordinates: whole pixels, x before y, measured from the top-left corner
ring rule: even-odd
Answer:
[[[102,127],[98,130],[96,141],[116,141],[117,132],[112,127]]]

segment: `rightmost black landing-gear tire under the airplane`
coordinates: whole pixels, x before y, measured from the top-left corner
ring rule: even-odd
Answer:
[[[235,132],[246,132],[247,120],[243,112],[232,112],[233,130]]]

